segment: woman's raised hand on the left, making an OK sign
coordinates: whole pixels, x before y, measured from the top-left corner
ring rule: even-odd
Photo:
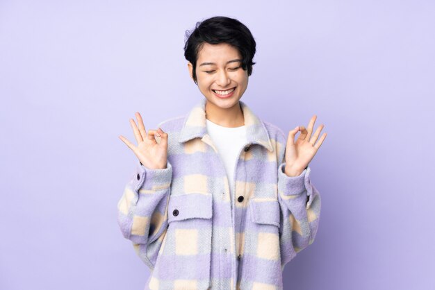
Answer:
[[[167,163],[167,133],[163,132],[161,128],[148,130],[147,133],[139,112],[136,112],[136,119],[138,119],[139,128],[133,119],[130,119],[130,123],[138,146],[129,142],[122,135],[119,136],[120,139],[136,154],[145,167],[148,169],[165,169]],[[157,142],[156,136],[161,137],[160,142]]]

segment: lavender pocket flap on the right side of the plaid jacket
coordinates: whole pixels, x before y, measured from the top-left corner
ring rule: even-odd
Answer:
[[[278,201],[268,201],[252,198],[250,201],[252,221],[279,227],[280,214]]]

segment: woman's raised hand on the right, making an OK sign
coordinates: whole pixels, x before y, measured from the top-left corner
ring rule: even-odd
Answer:
[[[288,133],[286,144],[286,168],[284,169],[284,172],[288,176],[299,176],[313,159],[315,153],[317,153],[320,148],[320,145],[322,145],[323,140],[326,138],[327,133],[323,133],[318,140],[320,131],[324,127],[323,124],[318,126],[314,135],[311,136],[315,119],[317,119],[317,116],[313,115],[308,124],[308,129],[304,126],[297,126]],[[296,142],[294,142],[295,135],[298,131],[301,133]],[[318,142],[315,143],[316,141]]]

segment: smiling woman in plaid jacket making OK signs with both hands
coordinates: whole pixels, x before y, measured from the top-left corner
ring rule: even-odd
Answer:
[[[309,162],[325,140],[288,137],[240,101],[256,43],[236,19],[212,17],[188,35],[188,71],[204,99],[183,117],[120,139],[138,164],[118,223],[151,269],[145,289],[283,289],[286,263],[313,243],[320,194]],[[295,135],[300,131],[295,141]]]

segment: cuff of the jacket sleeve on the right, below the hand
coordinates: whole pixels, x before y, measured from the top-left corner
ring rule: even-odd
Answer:
[[[286,162],[281,163],[278,167],[278,192],[284,196],[293,196],[303,194],[306,191],[308,196],[312,194],[310,172],[311,168],[307,166],[299,176],[287,176],[284,173]]]

